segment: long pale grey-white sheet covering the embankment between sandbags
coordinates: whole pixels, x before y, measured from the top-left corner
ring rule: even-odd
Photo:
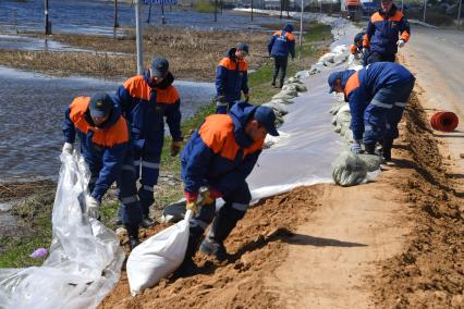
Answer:
[[[318,20],[332,26],[334,42],[329,57],[350,53],[349,46],[358,28],[346,20],[317,14],[307,15],[305,20]],[[298,92],[294,103],[286,106],[289,113],[278,128],[281,136],[272,138],[277,143],[262,151],[247,178],[254,200],[302,185],[332,182],[331,163],[346,145],[333,132],[329,110],[337,98],[329,94],[327,78],[330,73],[350,66],[349,58],[333,66],[325,66],[321,62],[312,66],[320,73],[303,79],[307,91]]]

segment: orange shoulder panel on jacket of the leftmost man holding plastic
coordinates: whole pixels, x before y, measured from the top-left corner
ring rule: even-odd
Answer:
[[[77,97],[71,103],[70,119],[74,123],[74,126],[86,135],[89,131],[94,132],[91,141],[99,146],[113,147],[119,144],[127,143],[129,129],[124,118],[120,116],[113,125],[103,128],[91,126],[85,120],[84,114],[88,109],[89,102],[90,97]]]

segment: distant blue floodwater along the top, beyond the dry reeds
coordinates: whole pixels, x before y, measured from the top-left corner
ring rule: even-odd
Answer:
[[[142,1],[142,0],[141,0]],[[0,30],[42,32],[45,26],[44,0],[1,0]],[[118,1],[118,22],[121,27],[134,27],[134,8],[127,2]],[[52,32],[74,34],[114,35],[113,0],[50,0],[49,21]],[[142,21],[146,25],[149,5],[142,4]],[[288,20],[278,17],[249,16],[231,11],[218,12],[215,22],[212,13],[198,13],[178,5],[164,7],[166,26],[193,27],[198,29],[262,29],[260,24],[280,23]],[[161,24],[161,8],[152,5],[150,24]]]

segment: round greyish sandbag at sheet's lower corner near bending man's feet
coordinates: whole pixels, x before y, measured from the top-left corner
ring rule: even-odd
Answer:
[[[366,175],[366,163],[351,151],[343,151],[332,163],[332,180],[342,187],[358,185]]]

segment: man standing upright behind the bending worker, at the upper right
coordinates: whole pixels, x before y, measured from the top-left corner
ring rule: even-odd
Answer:
[[[401,34],[401,36],[399,36]],[[395,61],[398,48],[411,37],[410,23],[392,0],[382,0],[381,8],[370,16],[363,48],[368,53],[366,64]]]

